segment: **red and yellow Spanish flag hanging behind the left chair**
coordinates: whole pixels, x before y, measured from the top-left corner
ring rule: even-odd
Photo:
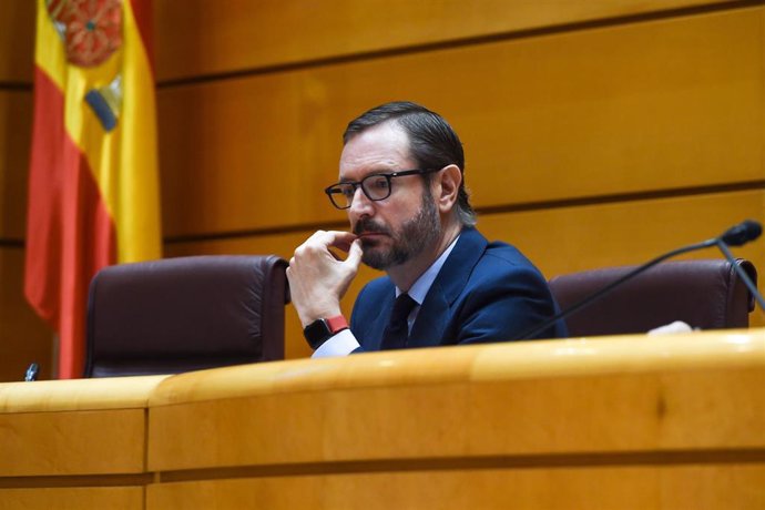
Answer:
[[[38,0],[24,292],[82,376],[88,286],[162,256],[150,0]]]

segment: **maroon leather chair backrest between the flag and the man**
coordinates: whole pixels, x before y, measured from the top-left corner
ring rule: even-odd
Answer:
[[[110,266],[90,285],[85,377],[284,358],[287,263],[274,255]]]

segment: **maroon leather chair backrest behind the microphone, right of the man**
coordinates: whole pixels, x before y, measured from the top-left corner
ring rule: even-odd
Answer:
[[[748,261],[737,264],[757,283]],[[550,280],[561,309],[619,279],[636,266],[610,267],[557,276]],[[754,298],[725,259],[659,264],[585,308],[570,315],[569,335],[646,333],[675,320],[701,329],[747,327]]]

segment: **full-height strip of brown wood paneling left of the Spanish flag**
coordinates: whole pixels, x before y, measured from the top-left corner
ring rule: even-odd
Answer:
[[[18,246],[27,225],[34,16],[33,1],[0,2],[0,381],[23,379],[32,361],[49,378],[52,365],[53,335],[23,297]]]

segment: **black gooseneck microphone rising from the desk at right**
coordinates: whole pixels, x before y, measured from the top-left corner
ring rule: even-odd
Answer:
[[[759,223],[755,222],[754,220],[746,220],[745,222],[740,223],[738,225],[732,226],[724,233],[722,233],[717,237],[713,237],[711,239],[702,241],[701,243],[695,243],[695,244],[690,244],[687,246],[683,246],[676,249],[673,249],[671,252],[667,252],[663,255],[657,256],[656,258],[653,258],[645,264],[635,267],[633,271],[630,273],[625,274],[621,278],[615,279],[614,282],[610,283],[605,287],[601,288],[600,290],[596,290],[595,293],[586,296],[584,299],[574,303],[567,309],[553,315],[549,319],[542,322],[541,324],[538,324],[537,326],[533,326],[520,335],[516,336],[512,340],[524,340],[524,339],[530,339],[534,338],[537,335],[542,333],[543,330],[548,329],[549,327],[552,327],[558,320],[564,319],[565,317],[581,310],[582,308],[591,305],[592,303],[596,302],[614,288],[619,287],[622,285],[624,282],[630,280],[634,278],[635,276],[640,275],[641,273],[645,273],[649,271],[651,267],[655,266],[660,262],[664,262],[667,258],[675,257],[677,255],[682,255],[684,253],[688,252],[695,252],[696,249],[704,249],[708,248],[712,246],[717,246],[721,251],[723,251],[723,254],[726,254],[727,251],[727,244],[731,244],[733,246],[742,246],[749,241],[754,241],[763,232],[763,227]],[[731,254],[730,251],[727,251],[726,258]],[[734,269],[738,274],[740,277],[742,277],[742,280],[744,280],[744,285],[749,289],[749,292],[755,296],[757,299],[757,303],[759,306],[765,309],[765,302],[763,302],[762,296],[757,292],[756,287],[752,283],[752,280],[746,276],[744,271],[738,267],[738,264],[735,263],[735,258],[733,258],[733,255],[730,255],[728,262],[733,264]],[[747,283],[748,282],[748,283]]]

